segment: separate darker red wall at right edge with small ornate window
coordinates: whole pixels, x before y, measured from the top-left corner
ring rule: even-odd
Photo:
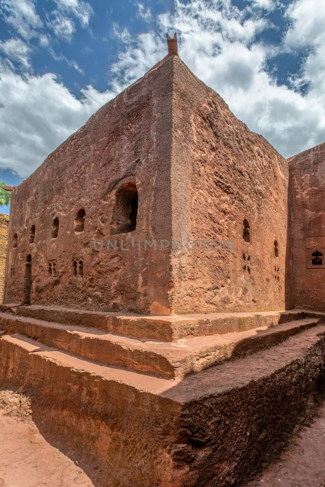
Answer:
[[[325,310],[325,143],[288,159],[296,307]]]

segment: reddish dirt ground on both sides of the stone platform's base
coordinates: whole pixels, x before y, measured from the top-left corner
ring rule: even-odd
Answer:
[[[80,466],[39,433],[24,395],[0,391],[0,445],[0,487],[95,487]],[[325,487],[324,481],[325,404],[279,462],[248,487]]]

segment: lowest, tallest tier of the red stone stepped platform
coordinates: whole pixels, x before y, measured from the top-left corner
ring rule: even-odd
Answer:
[[[325,327],[316,326],[172,381],[5,335],[1,382],[33,394],[41,434],[72,457],[78,451],[100,487],[239,487],[315,412],[324,392],[324,337]]]

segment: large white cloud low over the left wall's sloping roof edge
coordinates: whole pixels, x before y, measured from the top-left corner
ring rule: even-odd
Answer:
[[[78,100],[56,76],[21,77],[0,65],[0,167],[29,176],[63,140],[116,93],[88,86]]]

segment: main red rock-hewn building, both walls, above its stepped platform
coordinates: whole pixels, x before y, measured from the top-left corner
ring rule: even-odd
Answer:
[[[167,56],[13,191],[5,302],[283,309],[287,184],[286,160]]]

